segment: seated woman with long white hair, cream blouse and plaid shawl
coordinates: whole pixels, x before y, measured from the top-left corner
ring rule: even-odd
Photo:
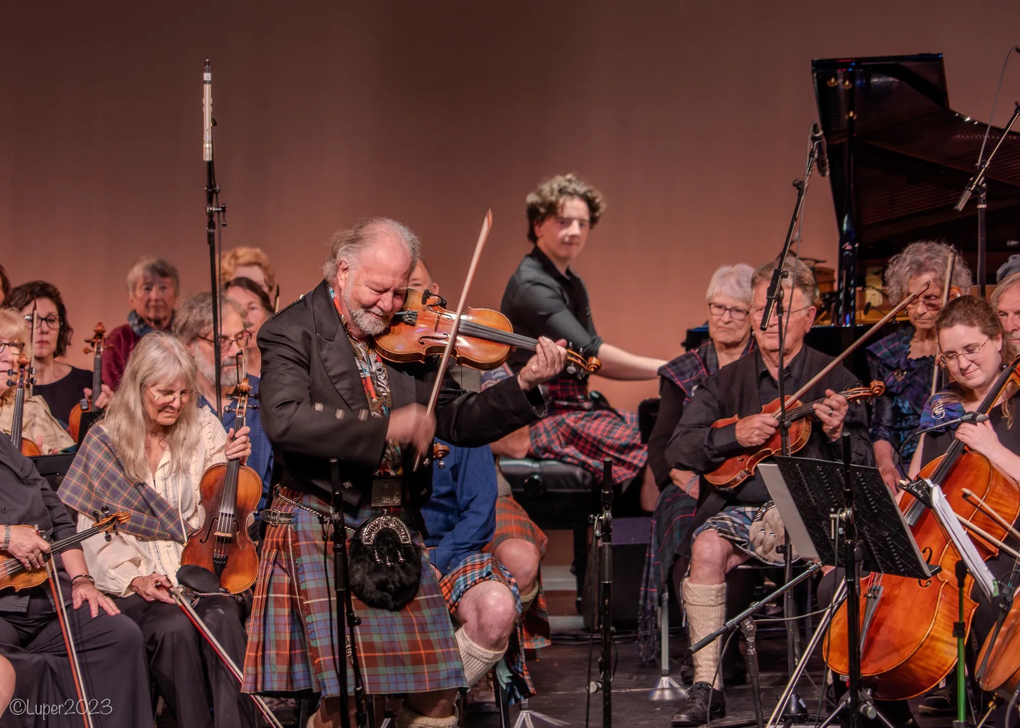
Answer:
[[[60,498],[82,514],[109,503],[132,518],[107,541],[84,544],[96,585],[142,628],[149,669],[182,728],[254,726],[251,699],[176,606],[168,589],[187,536],[203,522],[200,483],[205,470],[251,453],[248,428],[237,433],[196,406],[191,354],[172,335],[141,340],[103,419],[89,430]],[[204,595],[195,609],[227,653],[244,660],[245,606],[233,596]],[[209,688],[203,675],[209,676]]]

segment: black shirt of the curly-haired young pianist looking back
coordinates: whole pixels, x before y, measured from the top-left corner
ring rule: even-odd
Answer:
[[[584,281],[572,268],[561,273],[538,246],[524,256],[507,282],[500,311],[510,319],[514,333],[531,339],[548,336],[554,342],[565,339],[585,357],[597,356],[602,346]],[[516,372],[531,355],[524,349],[514,349],[507,362]]]

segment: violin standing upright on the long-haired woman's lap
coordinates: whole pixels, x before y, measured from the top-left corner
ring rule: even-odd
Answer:
[[[238,354],[241,370],[242,354]],[[238,377],[232,394],[236,418],[234,431],[245,426],[248,399],[252,385],[247,377]],[[200,484],[205,522],[188,537],[181,554],[181,565],[200,566],[217,576],[219,584],[232,594],[241,593],[255,583],[258,555],[248,535],[248,518],[262,498],[262,479],[252,468],[232,458],[206,469]]]

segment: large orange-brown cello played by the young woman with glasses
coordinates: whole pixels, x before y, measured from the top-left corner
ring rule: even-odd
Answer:
[[[996,379],[981,401],[977,412],[987,414],[1010,384],[1017,384],[1020,357],[1014,359]],[[999,520],[979,508],[968,492],[976,493],[988,509],[1009,523],[1020,515],[1020,489],[983,455],[971,452],[959,439],[953,440],[945,455],[921,469],[918,478],[940,485],[953,511],[972,536],[978,554],[990,559],[999,553],[1008,532]],[[911,525],[914,539],[928,563],[940,571],[925,582],[901,576],[871,575],[867,593],[861,597],[861,615],[868,614],[865,602],[877,597],[877,607],[867,623],[861,641],[861,675],[874,688],[874,696],[898,700],[931,689],[949,674],[957,662],[957,642],[953,623],[958,621],[959,593],[956,563],[960,555],[949,540],[934,514],[909,493],[900,502],[901,511]],[[967,631],[977,603],[970,597],[973,577],[964,585],[964,619]],[[862,587],[862,591],[864,591]],[[825,636],[825,661],[833,672],[846,675],[847,608],[840,607]]]

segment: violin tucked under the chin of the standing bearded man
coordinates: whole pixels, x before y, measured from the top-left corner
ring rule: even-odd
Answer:
[[[442,355],[455,315],[444,308],[445,303],[428,291],[408,289],[403,310],[394,316],[389,330],[375,337],[379,355],[394,362],[423,362]],[[499,311],[468,308],[461,314],[451,357],[461,366],[489,371],[503,364],[514,347],[533,351],[537,344],[514,333],[510,320]],[[567,361],[567,370],[579,376],[594,374],[602,366],[595,357],[585,359],[572,351]]]

